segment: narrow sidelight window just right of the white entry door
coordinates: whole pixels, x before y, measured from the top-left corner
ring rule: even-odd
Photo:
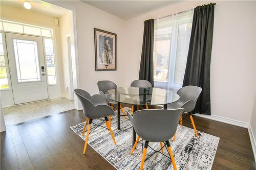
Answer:
[[[56,70],[54,61],[54,51],[53,51],[53,40],[45,38],[45,54],[46,54],[46,65],[47,65],[47,75],[49,85],[56,84]]]

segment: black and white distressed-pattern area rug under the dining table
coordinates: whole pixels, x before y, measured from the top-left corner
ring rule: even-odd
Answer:
[[[128,107],[123,109],[125,112],[130,112],[131,110]],[[93,123],[100,124],[101,120],[95,119]],[[83,122],[70,127],[83,140],[86,138],[86,133],[83,137],[81,136],[84,124]],[[102,126],[105,126],[105,124],[102,124]],[[95,127],[92,124],[91,131]],[[138,143],[133,155],[130,155],[132,149],[132,124],[129,118],[121,117],[121,130],[118,130],[117,117],[112,116],[111,127],[117,142],[116,146],[110,132],[102,127],[96,128],[90,134],[88,143],[116,169],[139,169],[142,145]],[[179,125],[176,141],[169,140],[178,169],[211,169],[220,138],[200,131],[198,131],[198,135],[200,137],[197,139],[193,129]],[[149,145],[155,150],[160,150],[160,143],[150,142]],[[153,153],[154,151],[148,148],[146,158]],[[165,148],[164,154],[168,155]],[[173,165],[170,159],[160,153],[156,153],[145,161],[143,169],[173,169]]]

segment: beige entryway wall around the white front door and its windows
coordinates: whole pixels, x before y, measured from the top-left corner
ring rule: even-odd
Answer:
[[[58,69],[61,69],[61,48],[60,48],[60,35],[59,35],[59,26],[55,26],[54,19],[56,17],[37,13],[34,11],[26,10],[24,8],[17,8],[13,6],[9,6],[6,4],[1,4],[1,18],[2,19],[10,19],[12,21],[28,23],[31,25],[41,26],[41,27],[50,27],[54,28],[55,36],[56,36],[56,48],[57,56],[55,56]],[[57,78],[58,82],[61,80],[61,72],[57,70]],[[49,99],[59,98],[60,95],[60,84],[56,86],[49,86]],[[1,99],[3,107],[12,105],[12,93],[9,91],[1,91]],[[5,98],[5,100],[3,100]],[[10,99],[10,100],[9,100]]]

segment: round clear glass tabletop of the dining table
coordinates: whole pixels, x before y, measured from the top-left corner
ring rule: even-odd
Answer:
[[[165,105],[180,99],[177,93],[161,88],[118,87],[105,92],[107,99],[131,105]]]

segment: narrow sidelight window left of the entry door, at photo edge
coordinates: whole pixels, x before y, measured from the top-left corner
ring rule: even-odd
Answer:
[[[0,89],[8,89],[7,69],[4,55],[3,37],[0,33]]]

